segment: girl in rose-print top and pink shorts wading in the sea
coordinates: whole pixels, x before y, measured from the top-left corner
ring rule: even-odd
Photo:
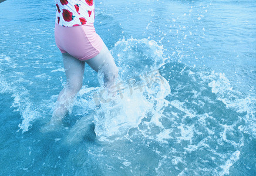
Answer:
[[[82,87],[85,63],[104,75],[109,89],[118,76],[118,69],[105,43],[95,32],[94,0],[55,0],[55,42],[63,57],[66,85],[59,93],[52,119],[41,131],[62,126],[73,98]]]

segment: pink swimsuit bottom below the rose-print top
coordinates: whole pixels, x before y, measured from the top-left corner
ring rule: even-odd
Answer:
[[[60,52],[69,53],[82,61],[97,56],[104,44],[93,23],[73,27],[55,23],[55,42]]]

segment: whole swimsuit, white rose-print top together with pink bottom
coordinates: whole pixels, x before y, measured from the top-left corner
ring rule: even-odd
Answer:
[[[79,60],[88,60],[100,53],[103,41],[95,32],[93,0],[55,0],[55,42],[60,52]]]

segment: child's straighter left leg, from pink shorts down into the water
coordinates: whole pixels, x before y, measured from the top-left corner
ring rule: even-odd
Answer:
[[[62,119],[68,113],[73,97],[79,92],[83,83],[85,62],[76,59],[68,53],[63,53],[62,56],[67,79],[66,86],[59,93],[52,119],[46,126],[59,126],[62,124]]]

